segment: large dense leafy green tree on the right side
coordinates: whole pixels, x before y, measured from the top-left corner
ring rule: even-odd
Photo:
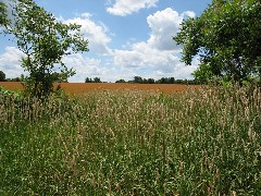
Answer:
[[[183,45],[185,64],[200,57],[196,79],[260,79],[260,10],[261,1],[214,0],[199,17],[183,22],[174,40]]]

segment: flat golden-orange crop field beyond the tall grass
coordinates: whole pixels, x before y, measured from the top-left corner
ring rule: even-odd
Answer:
[[[199,85],[178,85],[178,84],[128,84],[128,83],[59,83],[62,89],[70,94],[84,94],[96,90],[154,90],[162,93],[177,93],[188,88],[197,88]],[[59,85],[54,84],[54,88]],[[8,89],[23,89],[18,82],[0,82],[0,86]]]

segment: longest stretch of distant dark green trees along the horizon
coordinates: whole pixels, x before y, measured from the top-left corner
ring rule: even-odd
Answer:
[[[138,83],[138,84],[186,84],[186,85],[197,85],[199,84],[195,79],[175,79],[174,77],[161,77],[160,79],[154,78],[142,78],[140,76],[135,76],[133,81],[119,79],[115,83]]]

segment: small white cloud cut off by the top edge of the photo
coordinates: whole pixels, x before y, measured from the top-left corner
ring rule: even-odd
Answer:
[[[114,15],[125,16],[140,9],[156,7],[159,0],[116,0],[107,11]],[[111,1],[109,1],[111,3]]]

